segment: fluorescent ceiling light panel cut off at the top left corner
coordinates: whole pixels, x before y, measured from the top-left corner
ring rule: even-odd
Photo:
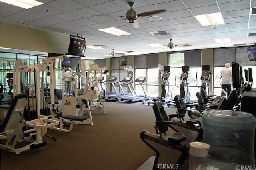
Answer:
[[[21,8],[29,9],[38,5],[42,5],[42,2],[38,2],[36,0],[0,0],[1,2],[5,2],[7,4],[19,6]]]

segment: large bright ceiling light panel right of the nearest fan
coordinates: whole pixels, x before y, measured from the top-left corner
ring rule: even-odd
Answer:
[[[225,24],[220,12],[195,16],[202,26]]]

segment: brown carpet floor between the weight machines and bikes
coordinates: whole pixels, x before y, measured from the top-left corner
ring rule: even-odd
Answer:
[[[140,132],[154,132],[152,106],[106,102],[92,112],[94,125],[74,125],[70,133],[48,129],[45,147],[15,153],[1,150],[1,170],[136,170],[154,152],[142,142]],[[165,107],[167,113],[176,108]]]

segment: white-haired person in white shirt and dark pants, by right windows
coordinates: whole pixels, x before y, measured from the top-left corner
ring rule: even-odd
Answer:
[[[221,76],[222,76],[221,88],[224,89],[229,96],[231,93],[232,69],[229,68],[230,63],[226,63],[225,67],[226,68],[221,70]]]

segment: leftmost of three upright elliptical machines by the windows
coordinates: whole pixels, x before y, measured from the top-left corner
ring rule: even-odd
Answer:
[[[172,99],[172,91],[170,90],[168,81],[170,76],[170,66],[165,66],[163,68],[163,71],[164,73],[160,74],[160,76],[162,75],[161,80],[159,80],[159,84],[161,84],[161,96],[157,97],[157,99],[151,100],[150,102],[148,102],[148,104],[155,104],[156,102],[170,102]]]

